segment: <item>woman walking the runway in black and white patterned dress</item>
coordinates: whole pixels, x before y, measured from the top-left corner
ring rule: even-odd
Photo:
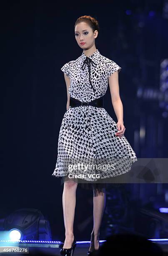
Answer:
[[[81,16],[75,22],[74,31],[75,39],[83,52],[78,59],[69,61],[61,68],[67,86],[68,101],[67,111],[60,127],[58,158],[52,176],[62,177],[61,184],[64,184],[65,241],[63,248],[60,249],[61,255],[73,255],[76,246],[73,234],[76,188],[79,184],[84,189],[93,189],[94,224],[88,251],[88,255],[92,255],[92,252],[99,248],[100,224],[105,208],[106,182],[102,181],[128,172],[131,164],[137,159],[124,136],[123,105],[118,84],[118,73],[121,67],[101,55],[96,49],[95,38],[98,36],[99,24],[95,18]],[[117,123],[103,108],[103,96],[108,84]],[[101,182],[99,183],[98,176],[73,176],[72,172],[65,168],[64,162],[67,158],[75,161],[75,159],[115,157],[129,158],[130,165],[122,166],[123,168],[120,166],[116,172],[113,169],[100,172]],[[76,174],[84,174],[84,172],[78,168]],[[83,182],[80,182],[81,180]]]

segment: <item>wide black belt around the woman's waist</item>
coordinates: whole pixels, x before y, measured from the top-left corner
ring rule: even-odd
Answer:
[[[90,102],[83,102],[70,97],[70,108],[79,107],[79,106],[93,106],[97,108],[103,108],[103,96],[98,99],[91,100]]]

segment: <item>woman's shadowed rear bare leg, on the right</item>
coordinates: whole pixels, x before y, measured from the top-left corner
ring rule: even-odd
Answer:
[[[106,202],[106,191],[105,188],[98,191],[93,189],[93,230],[91,233],[90,239],[90,248],[89,251],[93,251],[99,248],[99,233],[100,225],[103,218],[103,213],[105,209]]]

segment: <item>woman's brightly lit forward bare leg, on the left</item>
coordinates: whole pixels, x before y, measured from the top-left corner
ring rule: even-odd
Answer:
[[[63,217],[65,225],[65,241],[63,248],[71,248],[73,235],[73,222],[76,205],[76,189],[78,183],[73,181],[64,182],[63,189]]]

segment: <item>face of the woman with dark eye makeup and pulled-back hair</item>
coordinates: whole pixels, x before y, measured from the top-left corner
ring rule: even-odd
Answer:
[[[95,44],[95,38],[98,36],[98,31],[93,33],[92,28],[85,23],[80,22],[75,26],[75,39],[82,49],[90,49]],[[85,44],[80,44],[85,43]]]

